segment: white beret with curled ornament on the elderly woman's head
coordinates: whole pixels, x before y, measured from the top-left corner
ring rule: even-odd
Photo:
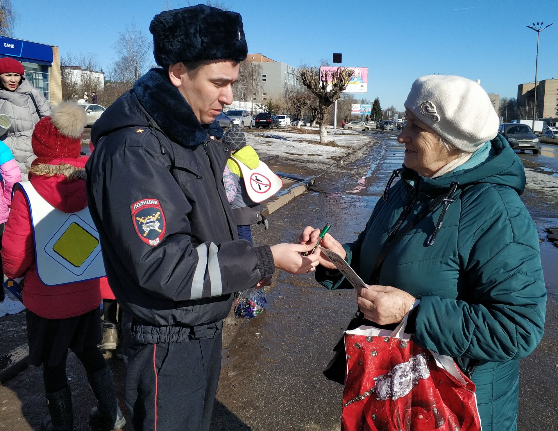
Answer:
[[[498,134],[498,115],[480,80],[421,76],[411,86],[405,108],[455,148],[468,153]]]

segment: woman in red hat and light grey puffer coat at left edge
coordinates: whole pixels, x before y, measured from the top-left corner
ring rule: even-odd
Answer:
[[[35,160],[31,135],[35,124],[50,115],[45,96],[25,79],[23,65],[10,57],[0,59],[0,114],[12,119],[11,128],[0,137],[12,150],[23,180]]]

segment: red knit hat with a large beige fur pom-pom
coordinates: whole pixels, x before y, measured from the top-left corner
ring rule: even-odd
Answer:
[[[85,109],[73,102],[62,102],[52,109],[50,117],[35,124],[31,146],[37,158],[33,165],[49,163],[55,158],[77,158],[81,151],[81,135],[86,123]]]

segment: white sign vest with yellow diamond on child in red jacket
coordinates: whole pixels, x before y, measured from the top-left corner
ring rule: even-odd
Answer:
[[[89,207],[66,213],[50,205],[31,185],[20,182],[27,197],[35,239],[35,262],[41,282],[55,286],[105,276],[99,233]]]

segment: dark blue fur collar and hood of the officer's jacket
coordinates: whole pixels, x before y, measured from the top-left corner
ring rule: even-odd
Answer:
[[[155,122],[155,124],[153,124]],[[180,91],[171,84],[163,69],[151,69],[136,81],[93,125],[91,140],[98,140],[125,127],[158,127],[172,141],[185,147],[204,143],[209,135],[222,138],[217,121],[200,124]]]

